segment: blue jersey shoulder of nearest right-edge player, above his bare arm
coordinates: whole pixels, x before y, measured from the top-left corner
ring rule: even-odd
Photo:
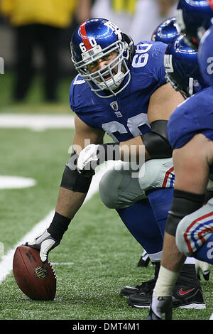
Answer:
[[[213,141],[213,90],[205,88],[180,104],[168,121],[168,139],[173,149],[202,133]]]

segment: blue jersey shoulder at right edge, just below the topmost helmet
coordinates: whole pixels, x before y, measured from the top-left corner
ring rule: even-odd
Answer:
[[[204,33],[200,41],[200,48],[198,51],[198,63],[200,65],[200,72],[205,82],[213,87],[213,26]]]

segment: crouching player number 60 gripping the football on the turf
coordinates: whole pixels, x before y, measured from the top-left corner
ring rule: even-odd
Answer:
[[[75,112],[73,151],[62,175],[53,221],[28,242],[40,249],[43,261],[60,243],[84,202],[95,166],[111,159],[121,162],[99,184],[102,201],[116,209],[159,269],[174,182],[167,123],[182,102],[180,93],[165,81],[165,47],[149,41],[135,46],[114,23],[102,18],[87,20],[75,30],[71,53],[79,75],[70,86],[70,107]],[[105,133],[113,143],[102,144]],[[146,172],[134,177],[140,156],[146,161]],[[190,288],[197,289],[197,280],[190,279],[193,273],[187,267],[183,276]],[[153,283],[148,286],[149,294]],[[144,289],[147,292],[147,286]],[[150,301],[149,296],[145,305]]]

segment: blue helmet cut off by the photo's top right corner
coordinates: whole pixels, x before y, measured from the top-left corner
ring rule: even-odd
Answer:
[[[195,50],[211,25],[213,11],[206,0],[180,0],[176,12],[179,33],[185,34],[186,43]]]

